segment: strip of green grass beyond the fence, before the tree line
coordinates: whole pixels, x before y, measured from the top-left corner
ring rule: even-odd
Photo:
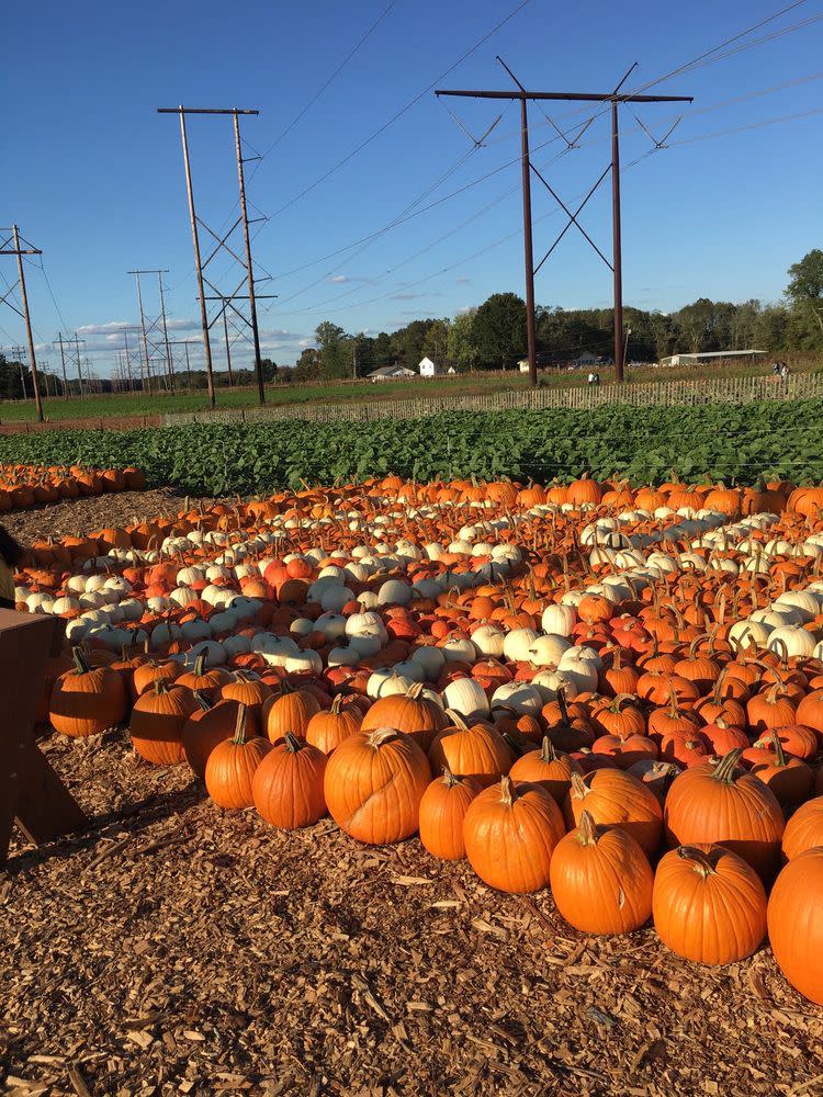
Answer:
[[[793,372],[809,372],[823,369],[823,363],[803,363],[792,366]],[[674,370],[661,370],[653,366],[641,366],[627,371],[627,380],[641,384],[651,381],[704,380],[709,377],[742,377],[768,373],[768,369],[757,365],[713,365],[685,366]],[[615,380],[613,370],[601,369],[600,382],[608,385]],[[541,371],[540,384],[549,387],[568,388],[586,384],[586,372]],[[393,400],[409,399],[418,396],[474,396],[489,392],[507,392],[526,388],[526,374],[508,372],[458,374],[449,377],[429,380],[416,378],[409,381],[386,381],[379,384],[363,383],[327,383],[317,385],[269,385],[266,398],[269,404],[306,404],[353,400]],[[223,408],[246,408],[257,406],[257,389],[218,388],[217,406]],[[125,416],[171,415],[179,411],[202,411],[208,407],[204,391],[144,395],[89,396],[80,399],[47,399],[44,400],[44,412],[58,422],[64,419],[106,419]],[[35,419],[34,403],[8,402],[0,404],[0,425],[3,422],[24,422]]]

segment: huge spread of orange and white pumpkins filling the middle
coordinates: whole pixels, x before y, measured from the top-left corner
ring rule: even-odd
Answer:
[[[20,608],[74,644],[42,716],[273,826],[419,833],[584,932],[768,934],[823,1004],[819,489],[553,491],[387,477],[34,546]]]

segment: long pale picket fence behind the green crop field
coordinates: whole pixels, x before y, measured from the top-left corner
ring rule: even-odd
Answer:
[[[799,373],[786,381],[770,376],[719,377],[713,381],[533,388],[477,396],[421,396],[418,399],[371,403],[274,404],[263,408],[165,415],[162,425],[177,427],[196,422],[271,422],[283,419],[364,422],[373,419],[419,419],[442,411],[543,411],[553,408],[584,411],[604,404],[628,404],[638,408],[694,407],[699,404],[752,404],[755,400],[809,399],[815,396],[823,396],[823,374]]]

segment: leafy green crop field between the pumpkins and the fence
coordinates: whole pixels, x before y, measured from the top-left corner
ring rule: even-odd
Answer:
[[[150,485],[194,495],[261,494],[398,473],[541,482],[585,470],[632,483],[823,479],[823,400],[589,411],[450,412],[368,423],[194,425],[64,430],[0,438],[0,460],[94,467],[135,464]]]

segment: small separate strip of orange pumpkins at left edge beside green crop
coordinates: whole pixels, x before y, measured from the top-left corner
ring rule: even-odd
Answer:
[[[145,486],[146,477],[133,467],[0,464],[0,511],[27,510],[104,491],[142,491]]]

